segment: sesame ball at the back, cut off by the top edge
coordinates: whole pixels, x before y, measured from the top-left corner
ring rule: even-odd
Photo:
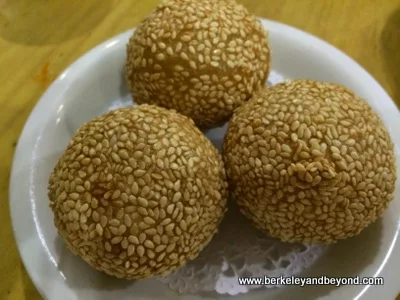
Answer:
[[[126,77],[137,103],[218,126],[266,82],[267,33],[233,0],[169,0],[137,27]]]

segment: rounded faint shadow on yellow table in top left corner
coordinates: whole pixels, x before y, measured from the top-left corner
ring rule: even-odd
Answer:
[[[0,36],[25,45],[58,44],[81,36],[103,20],[110,11],[111,0],[102,0],[101,5],[96,0],[84,3],[77,0],[2,1]]]

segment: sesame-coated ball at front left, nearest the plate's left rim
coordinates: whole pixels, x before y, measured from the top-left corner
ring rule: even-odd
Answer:
[[[226,211],[222,157],[192,120],[118,109],[84,124],[49,180],[73,253],[127,279],[166,275],[206,246]]]

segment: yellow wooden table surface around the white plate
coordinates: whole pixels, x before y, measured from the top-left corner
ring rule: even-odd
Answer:
[[[311,32],[363,65],[400,104],[400,0],[241,0]],[[138,24],[156,0],[0,0],[0,299],[40,299],[20,261],[8,206],[18,136],[51,82],[100,42]],[[398,298],[400,299],[400,297]]]

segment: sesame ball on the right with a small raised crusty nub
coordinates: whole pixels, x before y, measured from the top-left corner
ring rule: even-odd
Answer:
[[[243,214],[285,242],[355,236],[394,196],[388,131],[337,84],[296,80],[256,93],[230,121],[224,159]]]

